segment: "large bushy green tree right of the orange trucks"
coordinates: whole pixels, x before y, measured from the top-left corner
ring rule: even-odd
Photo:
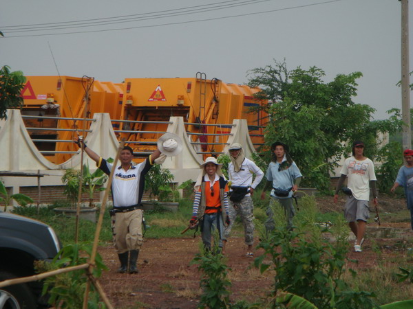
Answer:
[[[266,146],[277,140],[287,144],[304,175],[302,185],[321,190],[328,189],[330,170],[350,150],[346,143],[361,139],[374,157],[379,133],[401,128],[398,110],[390,111],[390,119],[372,121],[374,108],[353,102],[361,72],[338,74],[331,82],[324,82],[325,76],[317,67],[288,71],[285,61],[276,60],[248,74],[248,86],[261,89],[255,97],[269,102],[262,107],[271,119]]]

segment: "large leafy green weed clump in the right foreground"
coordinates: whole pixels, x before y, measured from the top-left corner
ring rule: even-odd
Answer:
[[[352,308],[351,304],[360,302],[366,304],[365,308],[374,308],[370,299],[373,293],[350,290],[341,278],[346,271],[348,253],[346,222],[337,217],[330,229],[320,227],[316,222],[314,198],[308,196],[303,200],[305,206],[294,220],[295,230],[286,229],[284,210],[275,205],[275,230],[262,232],[258,248],[264,249],[264,255],[256,258],[254,264],[264,272],[271,266],[264,259],[271,258],[275,271],[271,296],[276,299],[279,291],[292,293],[311,301],[317,308]],[[326,240],[322,234],[330,234],[335,242]]]

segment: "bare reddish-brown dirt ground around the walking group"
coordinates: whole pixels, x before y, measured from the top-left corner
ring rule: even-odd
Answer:
[[[321,211],[341,211],[344,199],[337,205],[332,203],[332,197],[317,198]],[[390,214],[406,208],[405,201],[392,198],[379,200],[379,213]],[[374,209],[373,209],[374,210]],[[375,214],[372,213],[374,218]],[[405,241],[405,238],[413,237],[410,230],[410,221],[403,218],[400,222],[386,222],[381,218],[381,226],[377,222],[370,222],[367,233],[374,237],[374,243],[383,249],[383,257],[391,260],[394,254],[406,254],[394,244]],[[396,228],[399,233],[383,238],[382,233]],[[190,233],[190,232],[189,232]],[[149,239],[140,252],[138,268],[139,273],[134,275],[118,274],[119,266],[116,251],[112,246],[100,247],[100,255],[103,256],[109,271],[100,278],[109,300],[114,308],[196,308],[200,299],[200,273],[196,264],[190,264],[195,254],[199,251],[200,236],[192,238],[189,233],[182,239]],[[191,233],[192,234],[192,233]],[[395,238],[396,241],[395,241]],[[256,240],[256,244],[258,240]],[[349,249],[352,247],[349,242]],[[231,267],[229,279],[232,282],[231,301],[246,300],[250,303],[259,301],[265,297],[273,283],[271,272],[260,274],[257,269],[251,267],[253,258],[245,256],[246,246],[242,233],[231,237],[226,246],[227,264]],[[255,251],[255,257],[260,255]],[[363,253],[348,253],[348,258],[358,260],[351,265],[357,271],[363,271],[374,267],[377,262],[372,251],[372,241],[366,239],[363,245]]]

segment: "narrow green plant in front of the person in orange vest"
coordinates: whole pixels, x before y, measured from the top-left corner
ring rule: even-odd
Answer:
[[[214,235],[218,239],[218,233]],[[191,264],[199,264],[202,271],[200,287],[202,295],[199,308],[229,308],[229,290],[231,282],[226,278],[231,270],[224,263],[224,256],[218,250],[218,243],[214,242],[213,249],[206,250],[200,243],[200,253],[195,255]]]

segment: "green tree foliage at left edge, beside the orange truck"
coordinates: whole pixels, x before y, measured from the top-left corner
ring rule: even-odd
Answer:
[[[23,105],[21,90],[25,84],[22,71],[10,72],[7,65],[0,69],[0,119],[7,118],[8,108],[16,108]]]

